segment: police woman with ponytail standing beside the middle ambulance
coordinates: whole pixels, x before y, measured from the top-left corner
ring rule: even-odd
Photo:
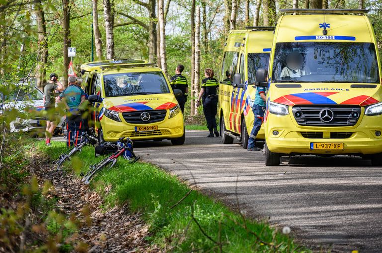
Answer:
[[[207,120],[207,127],[209,135],[207,137],[213,137],[215,133],[216,137],[219,137],[216,125],[216,113],[217,113],[217,89],[219,82],[213,78],[214,73],[211,68],[207,68],[204,71],[205,79],[201,81],[201,89],[199,98],[196,101],[196,106],[200,105],[200,99],[203,99],[203,112],[205,119]]]

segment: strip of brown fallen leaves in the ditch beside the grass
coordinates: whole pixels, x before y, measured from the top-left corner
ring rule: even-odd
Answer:
[[[53,184],[51,196],[59,199],[57,206],[60,212],[83,224],[77,237],[87,244],[83,250],[92,253],[159,252],[144,239],[149,232],[140,214],[130,213],[127,204],[111,210],[102,208],[102,197],[98,193],[73,174],[57,171],[51,164],[47,159],[35,156],[32,172],[41,185],[47,180]]]

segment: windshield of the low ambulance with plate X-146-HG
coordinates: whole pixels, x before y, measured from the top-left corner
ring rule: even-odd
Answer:
[[[106,97],[170,93],[162,72],[105,75]]]

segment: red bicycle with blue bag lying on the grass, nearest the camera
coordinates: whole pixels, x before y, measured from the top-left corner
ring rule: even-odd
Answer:
[[[111,167],[113,167],[115,163],[117,162],[118,157],[120,157],[121,155],[124,155],[125,152],[130,152],[131,158],[129,159],[131,159],[130,160],[131,163],[135,163],[136,161],[138,161],[139,157],[137,157],[134,154],[132,145],[133,145],[133,142],[127,137],[119,138],[119,140],[115,144],[112,144],[110,142],[105,143],[104,146],[106,147],[112,147],[112,148],[118,148],[118,149],[114,152],[114,154],[106,157],[105,159],[101,160],[100,162],[96,164],[89,166],[89,171],[86,175],[81,173],[80,175],[83,176],[83,178],[81,179],[81,182],[88,185],[92,177],[95,175],[95,173],[97,173],[97,171],[103,168],[110,169]],[[125,157],[129,157],[129,156],[125,156]]]

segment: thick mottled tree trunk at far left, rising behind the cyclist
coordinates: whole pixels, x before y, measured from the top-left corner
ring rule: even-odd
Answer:
[[[48,41],[46,34],[45,13],[41,0],[36,2],[36,18],[38,31],[38,49],[40,61],[37,66],[37,88],[43,89],[42,84],[46,76],[46,63],[48,62]]]

